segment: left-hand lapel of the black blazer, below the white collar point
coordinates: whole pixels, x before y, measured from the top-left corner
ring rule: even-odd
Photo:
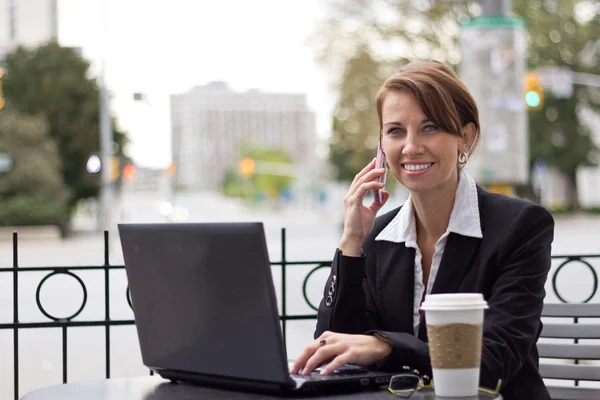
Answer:
[[[383,306],[385,329],[413,334],[415,249],[387,241],[377,246],[377,301]]]

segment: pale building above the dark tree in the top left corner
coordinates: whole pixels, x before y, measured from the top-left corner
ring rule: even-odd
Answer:
[[[0,58],[58,37],[58,0],[0,0]]]

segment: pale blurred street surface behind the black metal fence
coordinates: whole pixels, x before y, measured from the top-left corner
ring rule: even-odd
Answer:
[[[159,212],[162,198],[139,195],[123,200],[120,220],[126,222],[164,222]],[[262,221],[265,224],[271,261],[281,259],[281,228],[287,230],[286,253],[289,261],[329,260],[340,238],[341,208],[333,204],[309,204],[280,211],[247,208],[237,201],[223,199],[215,194],[188,195],[173,201],[185,207],[187,222],[198,221]],[[339,203],[341,204],[341,203]],[[312,208],[311,208],[312,207]],[[19,264],[32,266],[102,265],[102,235],[89,231],[93,223],[79,216],[75,227],[80,230],[66,240],[58,238],[28,239],[19,243]],[[598,247],[600,216],[557,216],[554,254],[594,254]],[[25,235],[24,235],[25,236]],[[122,265],[123,258],[116,232],[110,238],[111,264]],[[595,260],[591,260],[597,265]],[[0,238],[0,267],[12,265],[10,235]],[[553,269],[558,263],[555,263]],[[302,297],[303,280],[313,266],[289,267],[287,273],[287,313],[307,314],[313,311]],[[280,267],[273,267],[273,278],[278,298],[280,293]],[[21,322],[45,321],[37,309],[35,293],[45,273],[19,275],[19,318]],[[314,274],[309,281],[309,298],[317,304],[327,271]],[[95,320],[104,317],[104,277],[102,271],[79,274],[88,291],[88,302],[77,320]],[[584,266],[573,263],[561,272],[558,288],[571,301],[586,298],[592,289],[591,274]],[[12,274],[0,273],[0,323],[13,318]],[[131,319],[132,312],[126,302],[124,272],[111,273],[111,318]],[[557,301],[547,284],[547,300]],[[81,305],[82,292],[72,278],[53,277],[41,290],[41,301],[50,314],[58,317],[74,313]],[[598,301],[598,296],[593,301]],[[288,325],[288,355],[294,358],[312,339],[314,321],[290,322]],[[134,327],[112,328],[111,370],[115,377],[136,376],[147,373],[142,367]],[[12,398],[13,336],[12,331],[0,331],[0,399]],[[77,381],[98,379],[104,376],[103,328],[73,328],[68,331],[68,379]],[[61,331],[59,329],[22,330],[20,333],[20,385],[21,393],[38,387],[61,382]]]

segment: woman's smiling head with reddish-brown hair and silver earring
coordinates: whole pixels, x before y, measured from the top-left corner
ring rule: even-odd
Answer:
[[[479,141],[477,106],[465,85],[442,64],[419,63],[386,81],[376,102],[396,179],[415,195],[454,197],[459,164]]]

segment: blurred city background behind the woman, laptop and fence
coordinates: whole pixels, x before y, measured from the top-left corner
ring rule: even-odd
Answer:
[[[24,267],[101,265],[105,230],[122,264],[120,222],[262,221],[271,261],[281,228],[288,259],[329,260],[342,198],[376,153],[375,93],[423,58],[453,67],[478,102],[478,184],[553,212],[554,254],[599,253],[599,1],[0,0],[0,268],[14,230]],[[407,196],[387,182],[384,211]],[[312,312],[309,270],[288,275],[288,313]],[[563,296],[587,299],[589,274],[565,272]],[[43,321],[44,275],[22,275],[20,320]],[[102,273],[80,276],[78,319],[103,318]],[[0,323],[13,319],[12,285],[0,273]],[[131,319],[124,274],[112,285],[111,317]],[[82,293],[56,276],[41,297],[70,315]],[[291,358],[313,325],[290,324]],[[71,331],[69,381],[102,378],[103,329]],[[135,329],[114,331],[113,376],[147,373]],[[2,399],[12,335],[0,330]],[[60,331],[20,343],[22,393],[60,383]]]

